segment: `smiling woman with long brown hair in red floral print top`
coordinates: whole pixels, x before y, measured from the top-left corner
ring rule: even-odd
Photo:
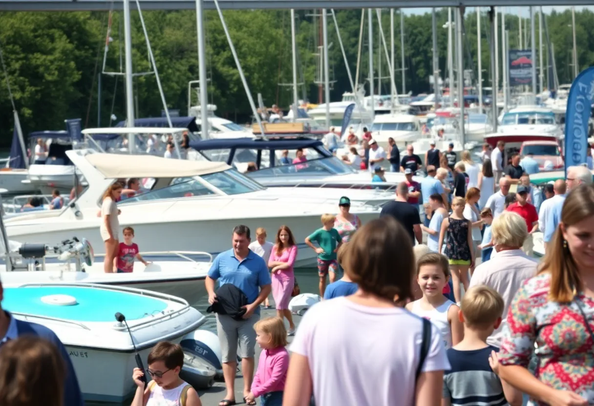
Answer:
[[[567,197],[551,245],[538,275],[514,297],[501,350],[492,357],[501,378],[528,394],[532,405],[593,404],[593,185]],[[534,375],[527,369],[533,353]]]

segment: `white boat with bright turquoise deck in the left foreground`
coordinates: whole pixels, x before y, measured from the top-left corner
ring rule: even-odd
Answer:
[[[136,389],[135,350],[146,368],[157,342],[179,343],[205,321],[178,297],[105,285],[4,283],[2,307],[58,335],[87,401],[124,402]]]

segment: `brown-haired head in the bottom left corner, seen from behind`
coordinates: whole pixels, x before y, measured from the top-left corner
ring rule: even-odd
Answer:
[[[58,348],[23,336],[0,348],[0,405],[62,406],[66,368]]]

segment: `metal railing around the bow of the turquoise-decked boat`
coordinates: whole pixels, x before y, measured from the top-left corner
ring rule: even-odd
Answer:
[[[128,323],[128,325],[130,326],[131,330],[133,330],[135,328],[140,328],[140,327],[144,328],[144,327],[150,326],[156,322],[159,322],[160,320],[163,320],[166,318],[171,318],[172,316],[179,315],[181,313],[185,313],[191,307],[189,305],[188,301],[185,299],[182,299],[181,297],[172,296],[172,295],[166,294],[166,293],[154,292],[154,291],[150,291],[150,290],[141,290],[141,289],[137,289],[137,288],[124,287],[124,286],[113,286],[113,285],[106,286],[106,285],[101,285],[101,284],[96,284],[96,283],[60,283],[60,284],[27,283],[27,284],[19,285],[18,287],[21,288],[21,287],[46,287],[46,286],[96,288],[96,289],[112,290],[112,291],[118,290],[118,291],[124,291],[127,293],[139,294],[140,296],[148,296],[148,297],[155,297],[156,299],[168,300],[170,302],[176,302],[176,303],[179,303],[180,305],[182,305],[182,307],[180,307],[179,309],[171,310],[170,312],[167,312],[167,313],[159,312],[161,314],[158,316],[156,316],[154,313],[145,313],[145,315],[151,316],[151,318],[146,321],[141,321],[141,322],[137,322],[137,323],[135,323],[135,321],[130,321]],[[29,313],[18,313],[18,312],[12,312],[12,313],[15,315],[29,316],[31,318],[40,318],[40,319],[47,319],[47,320],[51,320],[51,321],[70,323],[70,324],[78,325],[84,329],[90,330],[90,328],[87,327],[86,325],[84,325],[83,323],[73,322],[68,319],[53,318],[50,316],[41,316],[41,315],[31,315]],[[203,318],[204,318],[204,315],[203,315]],[[115,321],[115,318],[114,318],[114,321]],[[113,326],[113,329],[124,330],[124,329],[126,329],[126,326],[124,324],[122,324],[121,326],[115,325],[115,326]]]

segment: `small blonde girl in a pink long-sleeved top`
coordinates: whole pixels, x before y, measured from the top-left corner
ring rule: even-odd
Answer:
[[[261,406],[282,406],[285,380],[289,369],[289,351],[286,350],[287,331],[283,319],[271,317],[255,323],[256,341],[262,348],[258,370],[254,375],[252,390],[245,403],[255,405],[261,397]]]

